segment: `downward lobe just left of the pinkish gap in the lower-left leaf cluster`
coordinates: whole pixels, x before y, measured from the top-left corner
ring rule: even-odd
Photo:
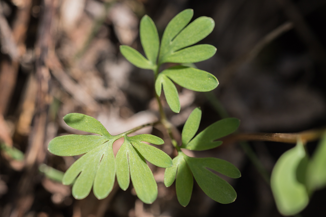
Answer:
[[[112,149],[113,142],[109,142],[102,150],[104,152],[97,170],[93,192],[97,199],[107,197],[112,191],[115,180],[115,159]]]

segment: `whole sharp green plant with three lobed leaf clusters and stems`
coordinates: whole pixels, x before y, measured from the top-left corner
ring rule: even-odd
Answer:
[[[72,194],[75,198],[86,197],[92,187],[98,199],[107,197],[113,188],[116,176],[118,184],[123,190],[128,188],[131,178],[137,196],[144,203],[152,203],[157,197],[157,184],[146,164],[146,159],[158,167],[167,168],[164,177],[166,186],[170,186],[176,179],[177,197],[183,206],[189,203],[193,176],[200,188],[215,201],[231,203],[236,199],[236,192],[232,186],[206,169],[215,170],[231,178],[239,178],[240,171],[234,165],[212,157],[189,157],[182,152],[181,148],[189,150],[215,148],[222,144],[221,141],[215,140],[234,132],[239,126],[239,120],[236,118],[222,119],[195,136],[201,119],[201,110],[196,108],[185,123],[182,131],[182,144],[179,146],[172,136],[171,124],[166,118],[159,99],[163,87],[166,101],[171,110],[178,113],[180,111],[179,96],[172,81],[181,87],[201,92],[213,90],[218,85],[214,75],[188,66],[173,66],[159,72],[161,64],[166,62],[194,63],[207,60],[215,54],[216,48],[212,45],[191,46],[212,32],[214,20],[200,17],[188,25],[192,16],[192,9],[186,9],[176,15],[166,27],[160,45],[156,26],[153,20],[145,15],[140,22],[140,38],[147,58],[132,47],[125,45],[120,47],[121,53],[135,66],[153,70],[156,99],[160,109],[159,123],[163,124],[169,132],[171,142],[178,155],[172,160],[160,149],[143,143],[163,144],[163,140],[154,135],[128,136],[142,127],[156,123],[143,125],[112,136],[95,118],[79,113],[68,114],[64,117],[68,126],[99,134],[64,135],[54,138],[49,143],[48,149],[55,155],[84,154],[66,171],[62,178],[64,184],[73,183]],[[114,157],[112,144],[119,138],[124,138],[124,143]]]

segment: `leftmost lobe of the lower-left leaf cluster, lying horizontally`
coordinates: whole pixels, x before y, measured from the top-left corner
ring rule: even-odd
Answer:
[[[75,156],[89,152],[106,141],[106,137],[96,135],[57,136],[49,142],[48,150],[58,156]]]

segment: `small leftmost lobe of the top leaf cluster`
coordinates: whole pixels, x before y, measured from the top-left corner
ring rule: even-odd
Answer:
[[[147,60],[140,52],[127,45],[120,45],[120,52],[122,55],[135,66],[142,69],[155,69],[155,65]]]

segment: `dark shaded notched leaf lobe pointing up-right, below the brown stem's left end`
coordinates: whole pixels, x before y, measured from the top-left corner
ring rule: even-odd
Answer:
[[[237,118],[224,118],[216,121],[201,131],[195,138],[193,138],[187,145],[181,146],[189,150],[202,151],[215,148],[222,144],[222,141],[214,141],[238,129],[240,124]]]

